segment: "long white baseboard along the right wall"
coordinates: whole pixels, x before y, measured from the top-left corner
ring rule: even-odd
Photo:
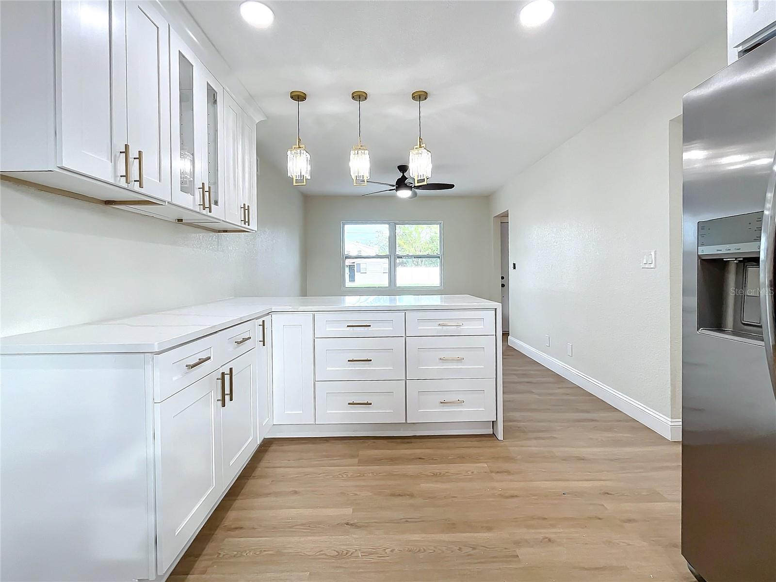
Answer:
[[[509,336],[508,343],[511,348],[539,362],[545,368],[553,370],[553,372],[563,376],[563,378],[573,382],[583,390],[587,390],[587,392],[600,398],[606,404],[615,407],[618,411],[624,412],[644,426],[651,428],[663,438],[667,438],[670,441],[681,441],[681,418],[669,418],[665,414],[653,411],[652,408],[641,404],[638,400],[625,396],[625,394],[618,392],[618,390],[611,386],[607,386],[605,383],[587,376],[570,365],[553,358],[551,355],[539,352],[539,350],[512,336]]]

